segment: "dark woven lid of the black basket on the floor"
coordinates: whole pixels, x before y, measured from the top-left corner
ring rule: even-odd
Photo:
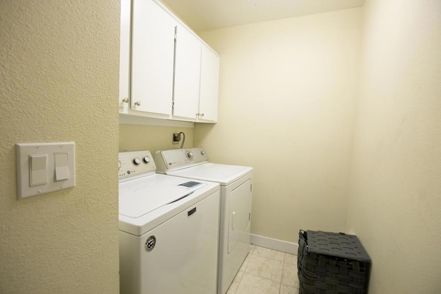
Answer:
[[[308,252],[371,262],[371,258],[356,235],[331,233],[322,231],[307,231]]]

